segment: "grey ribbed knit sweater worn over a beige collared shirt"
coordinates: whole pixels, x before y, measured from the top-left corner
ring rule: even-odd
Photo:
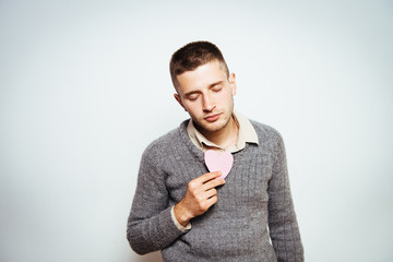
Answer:
[[[171,206],[189,181],[209,172],[187,123],[154,141],[142,156],[127,229],[131,248],[140,254],[162,250],[170,262],[303,261],[282,138],[254,121],[259,145],[234,154],[217,203],[191,219],[190,230],[176,227]]]

